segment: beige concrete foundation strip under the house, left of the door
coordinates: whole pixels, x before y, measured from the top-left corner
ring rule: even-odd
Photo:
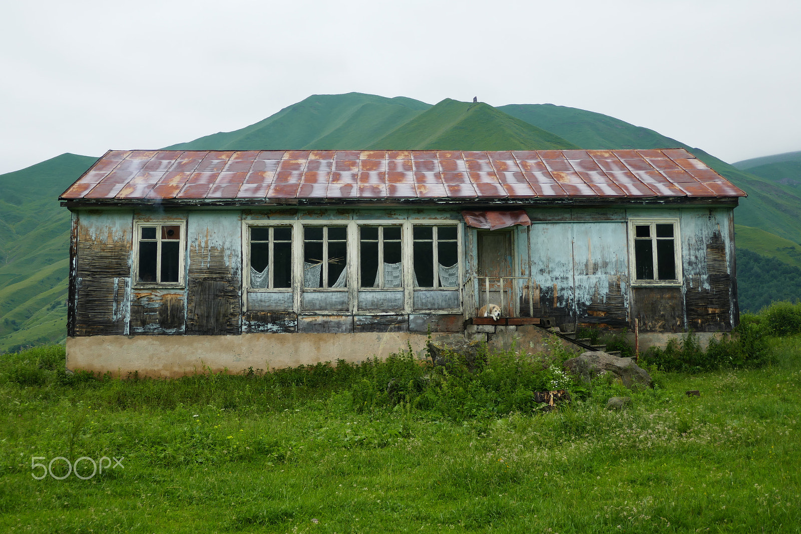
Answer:
[[[433,334],[433,339],[463,338]],[[319,362],[360,362],[406,350],[426,358],[427,334],[242,334],[235,336],[91,336],[67,338],[66,368],[110,371],[115,377],[179,377],[201,372],[240,373],[248,367],[271,370]]]

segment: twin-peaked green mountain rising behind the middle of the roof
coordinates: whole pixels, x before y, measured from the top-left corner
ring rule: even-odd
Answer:
[[[485,103],[436,106],[376,95],[312,95],[251,126],[188,143],[185,150],[537,150],[576,145]]]

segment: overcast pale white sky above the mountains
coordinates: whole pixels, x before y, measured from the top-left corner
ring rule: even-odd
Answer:
[[[734,162],[801,150],[801,2],[5,2],[0,172],[312,94],[554,103]]]

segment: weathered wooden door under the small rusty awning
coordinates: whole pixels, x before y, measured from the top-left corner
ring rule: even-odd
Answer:
[[[478,294],[476,302],[478,308],[485,304],[501,305],[502,317],[515,317],[513,295],[513,234],[509,231],[491,230],[478,231]],[[489,279],[489,302],[487,301],[487,281]],[[503,280],[503,295],[501,298],[501,280],[498,277],[507,277]],[[502,301],[502,302],[501,302]]]

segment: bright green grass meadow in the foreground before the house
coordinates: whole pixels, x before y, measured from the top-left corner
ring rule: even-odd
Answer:
[[[599,385],[461,422],[259,378],[6,382],[0,530],[798,532],[801,336],[772,343],[774,366],[665,374],[626,411]],[[124,469],[36,480],[32,456]]]

